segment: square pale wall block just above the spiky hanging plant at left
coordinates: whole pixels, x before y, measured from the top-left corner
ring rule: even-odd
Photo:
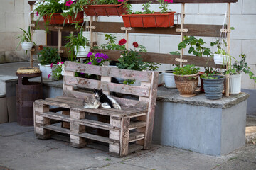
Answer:
[[[23,18],[23,13],[6,13],[6,28],[8,28],[9,32],[20,31],[18,27],[24,28]]]

